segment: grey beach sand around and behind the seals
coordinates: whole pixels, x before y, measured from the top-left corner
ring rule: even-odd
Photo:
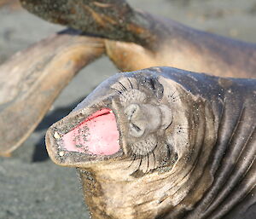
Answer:
[[[129,2],[201,30],[256,43],[256,0]],[[0,25],[0,63],[16,51],[63,29],[17,8],[0,9]],[[0,219],[89,218],[76,170],[59,167],[49,160],[44,134],[50,124],[66,116],[97,84],[115,72],[118,70],[107,58],[87,66],[62,92],[38,129],[13,157],[0,158]]]

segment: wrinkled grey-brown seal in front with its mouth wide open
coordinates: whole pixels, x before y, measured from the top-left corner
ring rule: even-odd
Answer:
[[[49,128],[47,150],[77,167],[93,218],[246,218],[255,88],[171,67],[119,73]]]

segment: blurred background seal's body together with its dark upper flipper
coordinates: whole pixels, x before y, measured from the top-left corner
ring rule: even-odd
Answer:
[[[122,72],[172,66],[220,77],[255,78],[256,45],[132,9],[125,0],[20,0],[44,20],[105,38]]]

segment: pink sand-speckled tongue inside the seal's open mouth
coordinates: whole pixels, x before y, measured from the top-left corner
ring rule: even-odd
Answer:
[[[63,135],[67,151],[111,155],[119,151],[119,131],[113,112],[102,109]]]

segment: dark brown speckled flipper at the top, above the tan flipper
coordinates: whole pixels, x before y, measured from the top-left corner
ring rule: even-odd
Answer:
[[[149,48],[154,48],[156,35],[160,36],[158,32],[164,30],[150,14],[131,9],[124,0],[20,0],[20,3],[29,12],[44,20]]]

